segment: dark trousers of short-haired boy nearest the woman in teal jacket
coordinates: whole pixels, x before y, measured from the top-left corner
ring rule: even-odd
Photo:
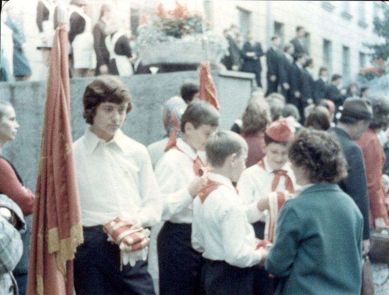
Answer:
[[[253,295],[253,267],[240,268],[226,261],[204,260],[201,285],[205,295]]]

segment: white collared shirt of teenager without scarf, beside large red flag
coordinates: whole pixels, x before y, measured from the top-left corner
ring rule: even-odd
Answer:
[[[120,217],[160,221],[162,200],[146,147],[118,130],[109,142],[89,128],[73,143],[83,226]]]

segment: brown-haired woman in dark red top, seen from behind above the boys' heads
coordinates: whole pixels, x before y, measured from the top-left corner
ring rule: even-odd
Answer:
[[[264,132],[270,122],[269,105],[265,98],[252,98],[243,113],[242,121],[241,135],[248,144],[246,166],[250,167],[265,157],[262,150],[265,145]]]

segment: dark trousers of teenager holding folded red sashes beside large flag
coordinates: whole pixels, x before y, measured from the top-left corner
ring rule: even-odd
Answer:
[[[119,246],[107,241],[103,227],[84,229],[84,243],[74,258],[74,289],[77,295],[155,295],[147,261],[123,266]]]

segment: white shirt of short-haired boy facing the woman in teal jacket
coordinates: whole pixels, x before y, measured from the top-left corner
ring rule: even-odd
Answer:
[[[212,191],[204,203],[198,196],[193,202],[193,248],[204,258],[238,267],[258,264],[262,255],[255,250],[254,229],[240,196],[227,177],[209,173],[208,179],[223,185]]]

